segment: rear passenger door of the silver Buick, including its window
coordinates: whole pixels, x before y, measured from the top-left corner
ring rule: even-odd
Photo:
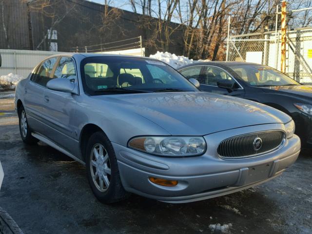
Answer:
[[[24,88],[24,107],[32,130],[41,133],[44,122],[44,92],[56,65],[57,57],[46,59],[35,70]]]

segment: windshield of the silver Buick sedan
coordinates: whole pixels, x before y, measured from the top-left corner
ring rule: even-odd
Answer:
[[[175,69],[153,59],[90,57],[81,62],[81,77],[89,95],[198,91]]]

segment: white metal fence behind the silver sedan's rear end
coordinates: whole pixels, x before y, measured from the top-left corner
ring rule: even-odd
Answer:
[[[0,49],[2,57],[0,76],[13,73],[26,78],[41,60],[57,53],[52,51]]]

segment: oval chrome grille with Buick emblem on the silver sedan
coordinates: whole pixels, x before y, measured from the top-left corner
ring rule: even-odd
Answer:
[[[260,138],[262,145],[256,149],[255,141]],[[285,139],[283,131],[266,131],[231,137],[223,140],[217,149],[218,155],[224,159],[241,159],[263,155],[279,148]]]

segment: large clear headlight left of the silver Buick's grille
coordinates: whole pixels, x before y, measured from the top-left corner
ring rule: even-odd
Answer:
[[[135,137],[128,147],[159,156],[196,156],[206,151],[203,137]]]

